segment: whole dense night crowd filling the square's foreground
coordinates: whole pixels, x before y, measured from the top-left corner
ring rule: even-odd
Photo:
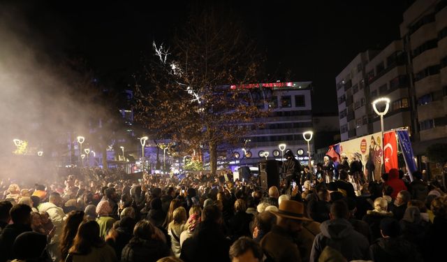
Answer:
[[[359,184],[347,168],[313,173],[286,157],[281,184],[268,189],[229,171],[131,180],[85,168],[32,187],[4,180],[0,262],[443,260],[438,181],[391,169]]]

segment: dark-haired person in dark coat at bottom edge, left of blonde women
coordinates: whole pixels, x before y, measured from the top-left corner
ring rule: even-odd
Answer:
[[[133,229],[133,238],[124,247],[122,262],[156,262],[170,255],[170,248],[159,235],[156,228],[148,220],[141,220]]]

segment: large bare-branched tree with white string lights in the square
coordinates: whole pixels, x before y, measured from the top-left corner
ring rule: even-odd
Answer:
[[[240,23],[212,10],[191,16],[170,49],[153,47],[154,59],[135,76],[136,119],[184,152],[202,145],[215,174],[218,151],[240,143],[266,114],[237,88],[259,82],[261,56]]]

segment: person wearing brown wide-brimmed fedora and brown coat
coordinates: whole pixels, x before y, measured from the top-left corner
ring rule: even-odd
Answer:
[[[277,216],[277,224],[261,240],[266,256],[272,261],[302,261],[298,234],[305,217],[305,206],[297,201],[281,201],[278,211],[270,211]]]

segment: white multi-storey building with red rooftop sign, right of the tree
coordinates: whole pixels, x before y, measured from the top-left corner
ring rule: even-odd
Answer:
[[[262,121],[258,127],[245,137],[243,147],[233,150],[233,161],[238,166],[257,166],[259,161],[281,160],[282,153],[291,150],[302,164],[309,160],[307,142],[302,133],[312,130],[312,82],[274,82],[247,85],[252,96],[257,96],[258,108],[269,110],[268,117],[256,119]],[[285,144],[283,152],[279,144]],[[314,152],[314,138],[310,141],[310,150]]]

